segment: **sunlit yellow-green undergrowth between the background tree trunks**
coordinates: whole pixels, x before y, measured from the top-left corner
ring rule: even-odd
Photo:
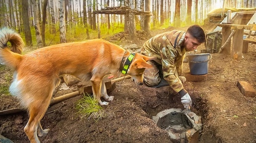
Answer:
[[[156,24],[153,26],[151,23],[151,30],[161,30],[166,29],[170,26],[173,26],[174,23],[170,23],[170,19],[166,19],[163,25]],[[184,22],[182,26],[185,26],[186,23]],[[51,32],[51,26],[46,24],[45,25],[45,42],[46,46],[59,44],[60,43],[60,31],[59,25],[55,25],[56,33]],[[140,30],[140,23],[136,23],[136,30]],[[90,39],[98,38],[98,29],[96,27],[95,30],[88,28]],[[108,39],[109,37],[124,32],[124,22],[123,23],[111,23],[110,29],[108,29],[108,24],[104,23],[100,25],[100,38]],[[32,35],[32,44],[36,48],[37,41],[35,35],[34,27],[31,27],[31,35]],[[24,33],[21,33],[23,40],[25,41]],[[68,22],[66,25],[66,41],[67,42],[74,42],[74,41],[83,41],[87,39],[86,28],[82,24],[74,25],[72,22]]]

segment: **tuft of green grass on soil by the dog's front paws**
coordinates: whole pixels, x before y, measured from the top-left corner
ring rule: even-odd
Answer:
[[[78,101],[76,109],[78,110],[78,114],[82,117],[87,117],[88,120],[92,118],[93,120],[98,121],[102,118],[111,116],[111,114],[105,111],[104,108],[101,107],[89,94],[83,95],[83,98]]]

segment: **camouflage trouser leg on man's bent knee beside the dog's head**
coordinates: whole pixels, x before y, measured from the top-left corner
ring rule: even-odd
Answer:
[[[143,74],[144,83],[148,86],[158,85],[161,81],[160,76],[163,76],[162,65],[154,61],[148,61],[153,68],[146,68]]]

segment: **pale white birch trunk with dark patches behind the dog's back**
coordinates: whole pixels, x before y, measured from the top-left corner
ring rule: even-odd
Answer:
[[[66,28],[65,28],[65,8],[64,8],[64,0],[59,0],[60,2],[60,39],[61,43],[66,42]]]

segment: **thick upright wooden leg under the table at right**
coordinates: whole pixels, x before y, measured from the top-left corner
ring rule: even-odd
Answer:
[[[244,34],[244,28],[242,29],[236,29],[236,33],[233,36],[233,43],[232,43],[232,52],[231,56],[235,60],[242,60],[242,50],[243,50],[243,34]]]

